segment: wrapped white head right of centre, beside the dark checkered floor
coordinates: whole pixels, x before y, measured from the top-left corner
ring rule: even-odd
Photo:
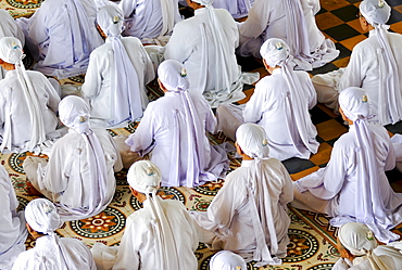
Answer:
[[[261,46],[260,53],[267,65],[275,67],[281,66],[289,57],[290,49],[284,40],[269,38]]]

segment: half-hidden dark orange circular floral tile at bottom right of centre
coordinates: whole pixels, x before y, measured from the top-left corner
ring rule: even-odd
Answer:
[[[290,243],[288,256],[284,262],[297,262],[313,257],[318,252],[318,241],[310,233],[301,230],[288,230]]]

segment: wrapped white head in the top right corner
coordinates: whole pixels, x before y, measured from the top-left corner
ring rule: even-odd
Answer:
[[[360,3],[360,12],[374,27],[386,24],[391,16],[391,8],[385,0],[364,0]]]

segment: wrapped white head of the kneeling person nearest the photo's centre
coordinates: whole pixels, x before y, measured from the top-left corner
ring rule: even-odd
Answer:
[[[168,91],[187,90],[190,86],[187,72],[176,60],[165,60],[158,67],[158,77]]]

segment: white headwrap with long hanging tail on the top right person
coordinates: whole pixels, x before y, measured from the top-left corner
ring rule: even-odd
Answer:
[[[391,123],[395,124],[402,119],[402,93],[399,77],[395,76],[400,67],[387,39],[389,25],[386,23],[391,15],[391,8],[384,0],[364,0],[360,4],[360,12],[375,28],[379,42],[377,54],[382,63],[378,70],[380,81],[378,92],[381,93],[378,101],[378,117],[380,123],[389,123],[389,119],[385,119],[389,115]],[[386,112],[387,107],[389,107],[389,114]]]

